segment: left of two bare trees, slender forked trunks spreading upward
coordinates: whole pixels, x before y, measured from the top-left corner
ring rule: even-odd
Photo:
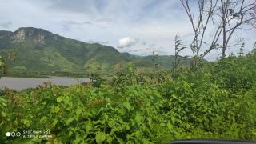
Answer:
[[[202,50],[203,44],[206,42],[206,30],[208,30],[210,26],[210,22],[212,21],[214,10],[216,10],[218,1],[214,0],[198,0],[196,1],[198,4],[198,7],[196,9],[197,17],[194,17],[195,14],[193,14],[190,2],[189,0],[180,0],[182,2],[183,8],[186,10],[186,14],[190,20],[193,32],[194,32],[194,38],[190,44],[190,50],[192,50],[194,58],[203,58],[206,54],[200,54],[200,51]],[[193,1],[194,2],[194,1]],[[216,33],[214,34],[213,41],[210,44],[210,48],[208,51],[213,50],[219,37],[220,28],[216,30]],[[197,66],[198,61],[196,60],[194,63]]]

